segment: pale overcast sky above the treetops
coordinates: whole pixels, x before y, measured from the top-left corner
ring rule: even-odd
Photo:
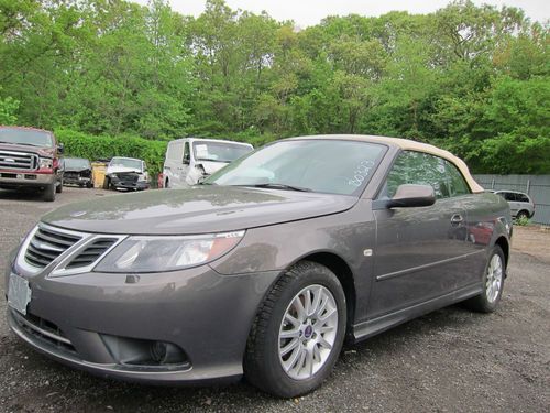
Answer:
[[[132,0],[146,4],[147,0]],[[172,9],[182,14],[198,17],[205,10],[204,0],[168,0]],[[249,10],[260,13],[265,10],[272,18],[294,20],[300,28],[318,24],[328,15],[348,15],[351,13],[377,17],[393,10],[405,10],[409,13],[430,13],[444,8],[449,0],[226,0],[231,9]],[[531,21],[550,20],[550,0],[485,0],[475,4],[487,3],[517,7],[525,11]]]

